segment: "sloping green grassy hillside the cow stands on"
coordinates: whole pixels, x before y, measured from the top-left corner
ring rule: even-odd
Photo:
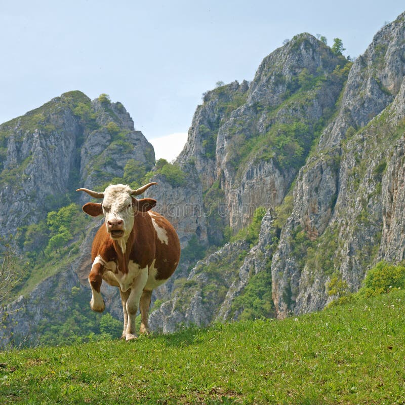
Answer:
[[[0,353],[0,403],[405,403],[405,292],[288,318]]]

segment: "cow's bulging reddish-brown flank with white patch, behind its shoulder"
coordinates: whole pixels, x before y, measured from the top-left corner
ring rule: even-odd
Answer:
[[[180,260],[180,241],[173,225],[163,216],[148,212],[155,230],[156,280],[168,279],[176,270]]]

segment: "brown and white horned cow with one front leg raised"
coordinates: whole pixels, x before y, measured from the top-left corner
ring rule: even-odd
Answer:
[[[124,311],[123,338],[135,339],[135,317],[141,312],[140,333],[148,333],[148,315],[152,290],[163,284],[175,271],[180,259],[176,231],[163,216],[150,211],[156,204],[151,198],[136,199],[152,184],[137,190],[116,184],[103,193],[79,188],[101,204],[87,203],[83,211],[93,217],[104,214],[105,224],[97,231],[92,246],[89,274],[93,311],[104,311],[100,293],[102,280],[119,288]]]

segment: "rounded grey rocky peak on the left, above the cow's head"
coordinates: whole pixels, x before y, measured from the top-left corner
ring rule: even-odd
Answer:
[[[0,233],[46,217],[49,199],[121,178],[129,159],[154,165],[152,145],[120,103],[69,92],[0,126]],[[1,166],[0,166],[1,168]],[[54,207],[52,207],[54,208]]]

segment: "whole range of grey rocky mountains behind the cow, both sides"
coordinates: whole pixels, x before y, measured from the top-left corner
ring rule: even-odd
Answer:
[[[331,282],[353,292],[379,260],[404,259],[404,44],[405,13],[354,62],[295,36],[251,82],[204,95],[174,165],[154,166],[120,103],[62,95],[0,126],[2,229],[44,221],[63,198],[80,203],[77,184],[155,180],[147,195],[178,230],[182,259],[155,292],[153,329],[322,309],[337,298]],[[55,270],[74,271],[84,293],[95,227]],[[121,316],[116,293],[104,294]]]

